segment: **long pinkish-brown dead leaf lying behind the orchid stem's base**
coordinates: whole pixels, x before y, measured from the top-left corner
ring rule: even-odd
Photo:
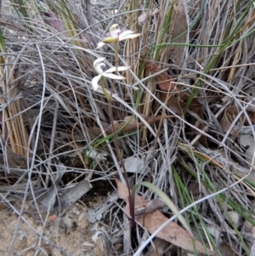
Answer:
[[[130,215],[129,212],[129,205],[128,205],[128,191],[127,186],[123,185],[122,182],[116,179],[116,184],[118,186],[118,194],[119,197],[127,202],[126,207],[124,208],[125,212]],[[146,204],[146,200],[141,196],[135,197],[135,208],[140,208]],[[163,215],[160,211],[156,210],[152,213],[148,213],[141,216],[137,216],[135,218],[140,225],[144,225],[144,229],[147,230],[150,234],[152,234],[155,230],[157,230],[162,224],[167,221],[167,217]],[[171,222],[167,227],[161,230],[157,237],[171,242],[178,247],[182,247],[186,251],[193,252],[193,242],[195,244],[196,251],[198,253],[205,253],[205,249],[202,246],[201,242],[195,240],[192,242],[192,237],[190,236],[189,232],[184,230],[181,226],[176,224],[175,222]],[[212,255],[212,251],[209,251]]]

